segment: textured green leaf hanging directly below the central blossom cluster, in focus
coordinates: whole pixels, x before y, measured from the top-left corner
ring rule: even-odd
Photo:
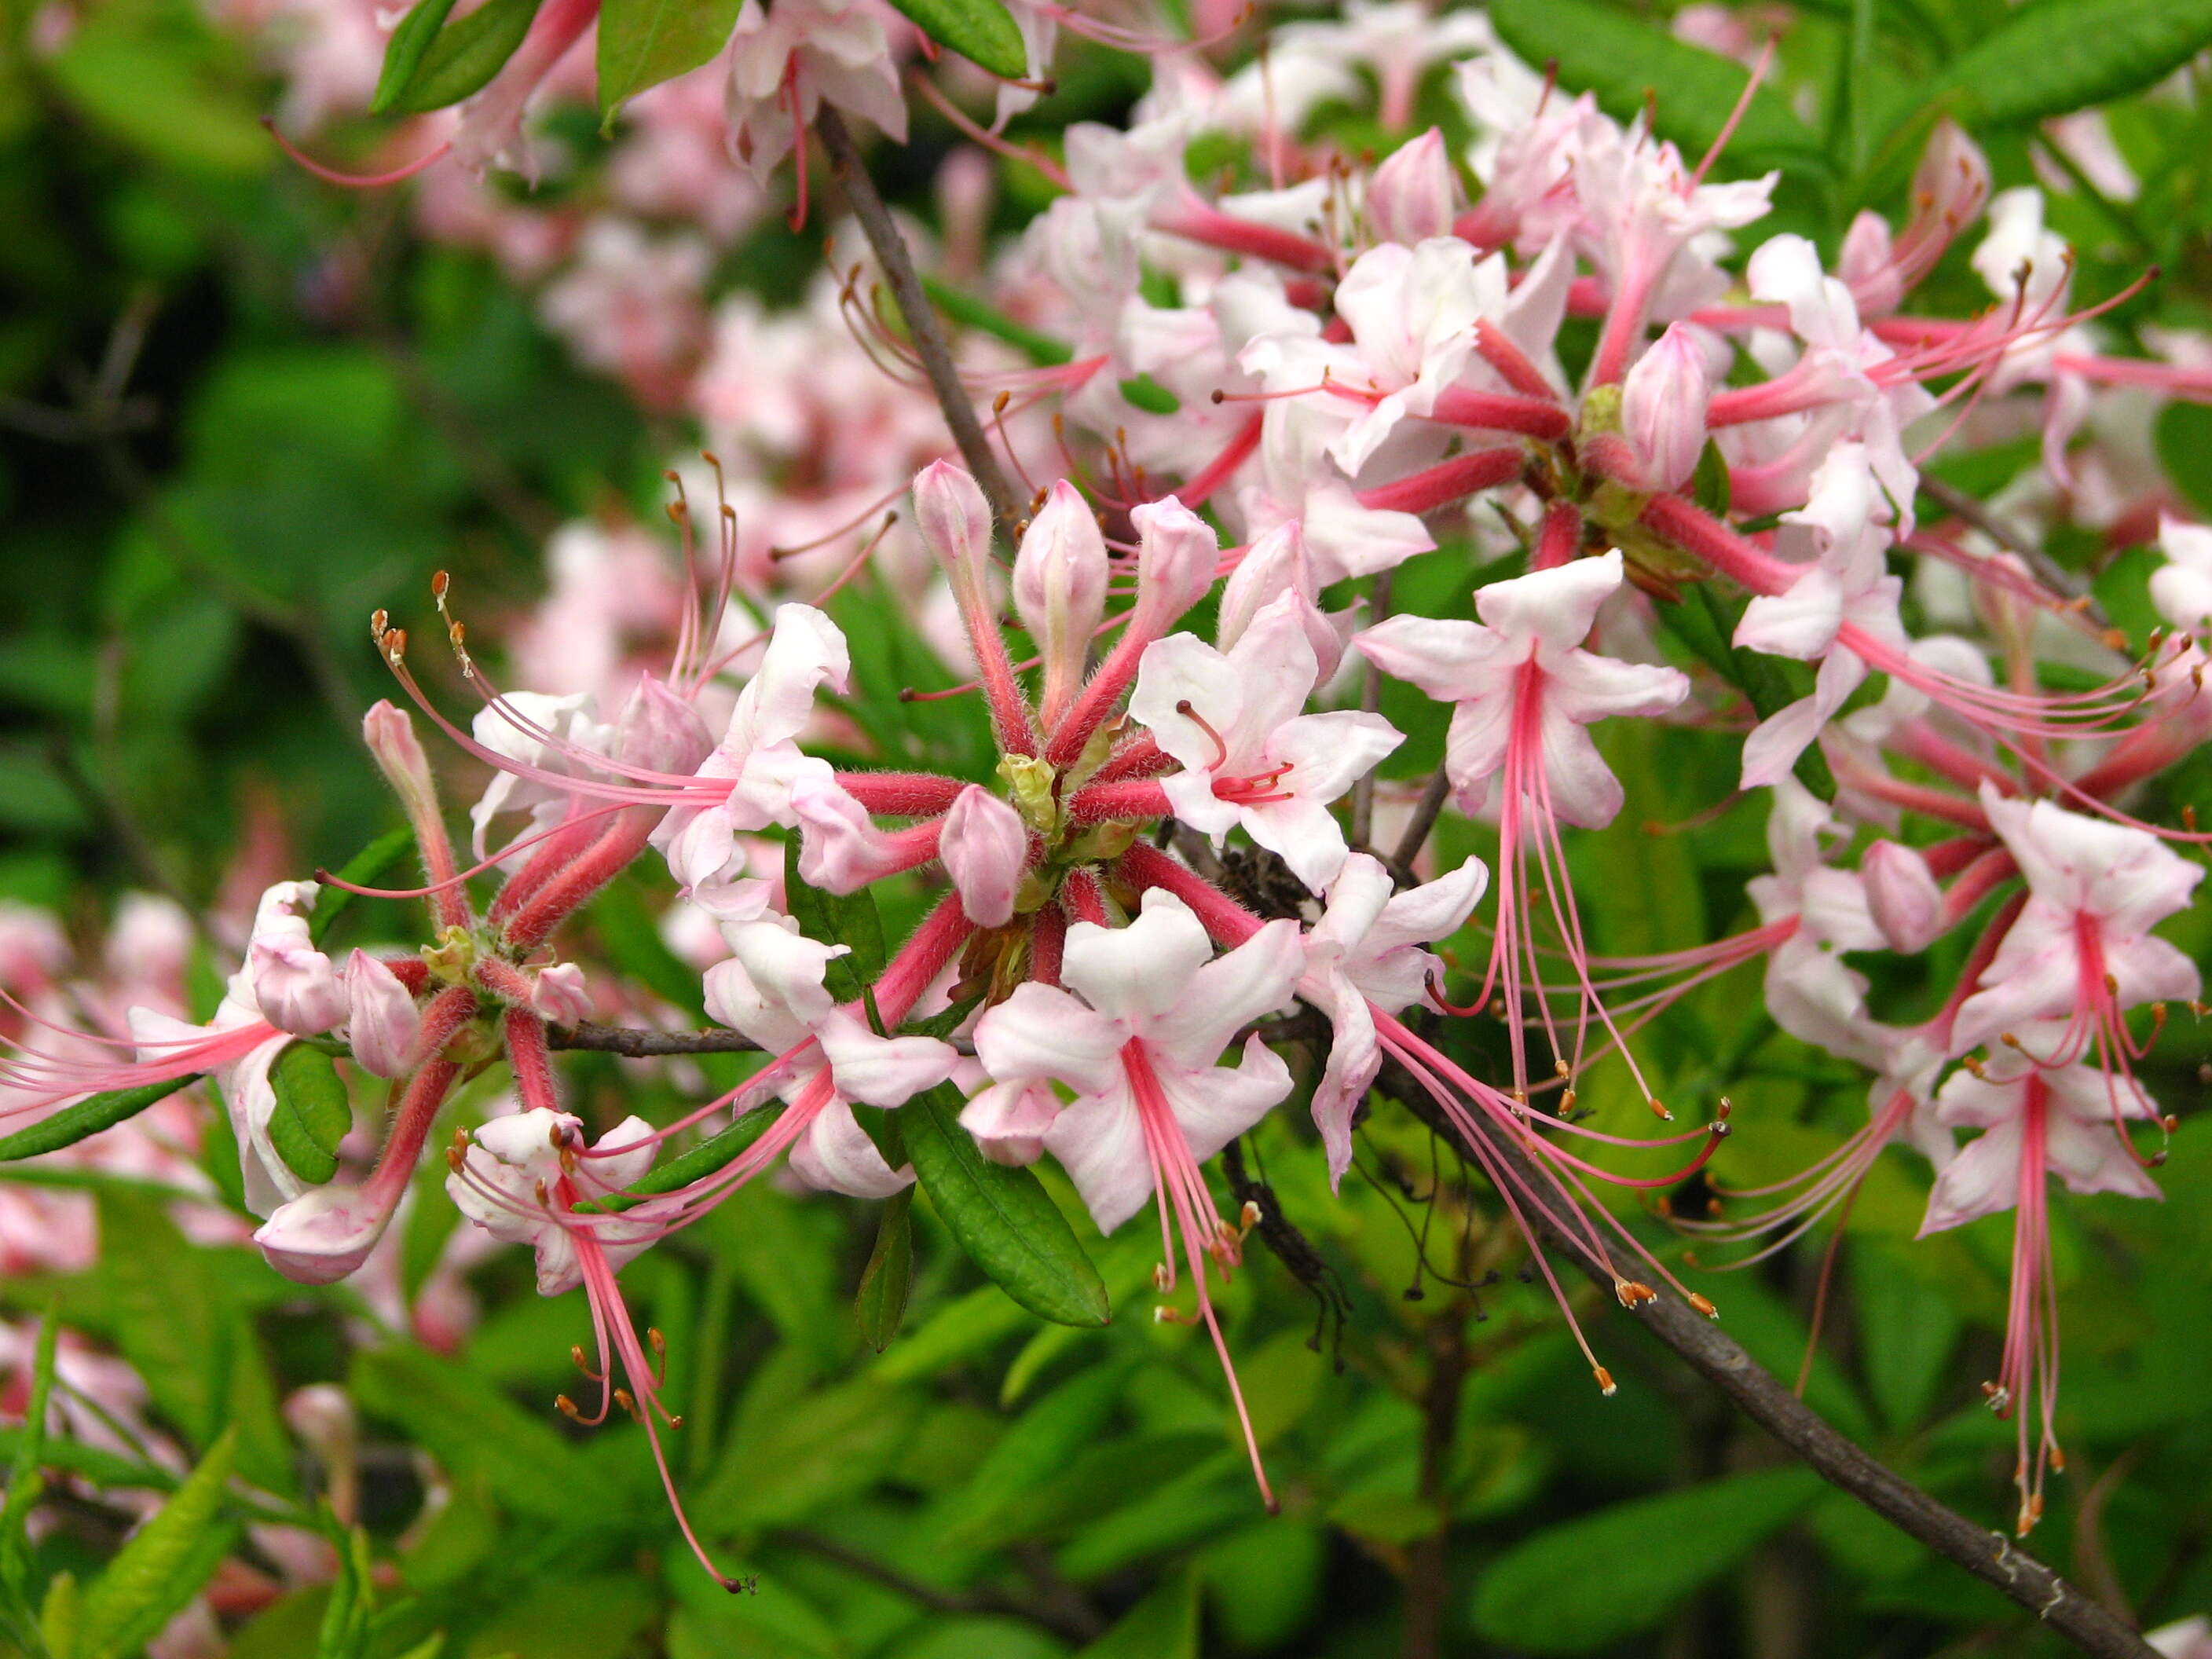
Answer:
[[[914,1175],[947,1232],[1000,1290],[1055,1325],[1104,1325],[1113,1316],[1106,1281],[1060,1206],[1029,1170],[982,1155],[960,1128],[956,1088],[938,1084],[916,1095],[898,1121]]]

